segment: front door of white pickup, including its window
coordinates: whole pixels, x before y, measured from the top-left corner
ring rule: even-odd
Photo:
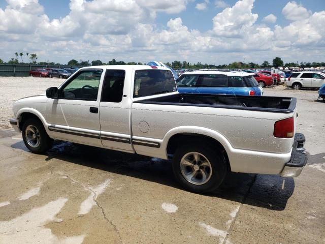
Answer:
[[[56,139],[102,145],[99,87],[102,69],[84,69],[64,83],[47,104],[48,129]]]

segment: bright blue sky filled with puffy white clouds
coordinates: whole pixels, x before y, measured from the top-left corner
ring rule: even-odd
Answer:
[[[5,61],[325,61],[324,0],[1,0],[0,19]]]

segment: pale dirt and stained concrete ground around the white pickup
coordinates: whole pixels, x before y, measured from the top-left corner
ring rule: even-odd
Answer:
[[[168,161],[59,141],[30,154],[8,130],[12,104],[62,81],[0,77],[0,243],[325,243],[316,90],[265,88],[298,98],[309,153],[299,177],[234,174],[227,188],[198,195],[179,188]]]

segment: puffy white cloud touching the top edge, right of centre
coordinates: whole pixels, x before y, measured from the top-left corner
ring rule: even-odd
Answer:
[[[233,7],[224,9],[213,18],[213,31],[217,36],[239,36],[252,26],[258,14],[253,14],[254,0],[238,1]]]

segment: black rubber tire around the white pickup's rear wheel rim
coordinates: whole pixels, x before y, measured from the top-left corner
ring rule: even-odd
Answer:
[[[208,174],[210,176],[206,177],[206,181],[201,179],[204,182],[204,184],[201,184],[201,185],[196,185],[195,183],[190,182],[183,175],[183,174],[185,174],[185,172],[184,172],[184,169],[182,168],[182,167],[184,167],[184,164],[182,166],[182,163],[181,163],[182,159],[184,157],[186,158],[186,155],[189,155],[189,157],[191,157],[190,154],[193,152],[203,155],[211,165],[211,171]],[[185,168],[189,168],[189,171],[192,170],[192,172],[198,171],[198,170],[201,171],[200,164],[202,164],[202,162],[205,162],[205,160],[203,160],[202,162],[200,162],[200,160],[204,159],[204,157],[200,156],[200,159],[196,163],[196,166],[200,167],[200,169],[196,169],[194,167],[187,166],[187,165],[185,165]],[[186,144],[186,145],[183,145],[183,146],[177,148],[175,151],[174,157],[173,157],[174,176],[175,176],[176,180],[180,183],[180,185],[190,192],[195,192],[195,193],[213,192],[221,185],[221,183],[228,171],[227,169],[228,169],[227,163],[226,163],[226,160],[225,160],[223,154],[221,153],[221,151],[218,149],[215,149],[215,148],[211,148],[208,145],[206,145],[204,143],[200,143],[200,142],[198,142],[198,144]],[[191,174],[189,173],[188,175],[191,175]],[[193,177],[191,177],[191,176],[189,176],[189,177],[191,177],[191,179],[193,179],[196,175],[197,175],[197,177],[200,176],[200,172],[196,173]],[[201,174],[201,176],[203,177],[203,174]],[[206,176],[207,176],[207,174],[206,174]],[[193,180],[191,180],[191,181],[193,181]]]

